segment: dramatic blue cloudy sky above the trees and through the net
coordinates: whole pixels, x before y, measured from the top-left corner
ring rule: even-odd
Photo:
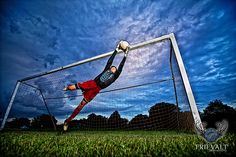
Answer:
[[[121,39],[138,43],[171,32],[178,40],[199,110],[214,99],[236,107],[234,1],[10,0],[0,3],[1,110],[5,110],[18,79],[111,51]],[[151,81],[164,76],[167,68],[160,63],[165,61],[167,47],[168,43],[164,43],[130,54],[121,78],[110,89],[140,83],[145,77]],[[159,56],[162,56],[161,62],[156,59]],[[60,85],[71,80],[92,79],[102,70],[105,61],[61,74],[60,78],[70,79],[64,79]],[[40,84],[36,82],[35,85]],[[151,86],[101,94],[82,113],[96,111],[109,115],[117,109],[127,117],[147,114],[150,106],[168,100],[169,96],[163,94],[170,92],[168,86],[171,87],[169,82],[159,85],[158,89]],[[50,93],[49,89],[45,92]],[[50,103],[50,109],[55,115],[65,117],[80,99]],[[12,114],[19,111],[27,115],[31,111],[41,113],[39,106],[30,107],[23,102]]]

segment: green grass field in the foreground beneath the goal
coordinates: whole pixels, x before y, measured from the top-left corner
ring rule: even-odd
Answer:
[[[3,132],[0,156],[222,156],[234,155],[236,134],[214,144],[227,151],[196,148],[207,144],[194,134],[167,131]]]

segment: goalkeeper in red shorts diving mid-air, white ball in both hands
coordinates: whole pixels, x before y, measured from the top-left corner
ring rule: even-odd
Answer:
[[[122,61],[120,62],[120,65],[118,68],[116,68],[114,65],[112,65],[113,60],[117,54],[118,51],[122,50],[124,52],[124,57]],[[89,103],[99,92],[100,90],[110,86],[115,80],[120,76],[123,66],[126,61],[126,57],[128,55],[129,51],[129,43],[126,41],[120,41],[120,43],[117,45],[115,51],[111,55],[111,57],[108,59],[107,64],[102,71],[94,80],[89,80],[83,83],[76,83],[69,85],[68,87],[64,88],[64,91],[67,90],[77,90],[80,89],[83,92],[83,100],[80,102],[80,104],[76,107],[76,109],[73,111],[73,113],[70,115],[69,118],[67,118],[64,122],[63,130],[67,131],[68,124],[70,121],[82,110],[82,108]]]

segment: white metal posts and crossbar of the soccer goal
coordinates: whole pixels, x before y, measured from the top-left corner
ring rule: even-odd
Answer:
[[[186,69],[185,69],[185,66],[184,66],[184,63],[183,63],[178,45],[177,45],[177,41],[175,39],[175,35],[173,33],[171,33],[171,34],[164,35],[164,36],[152,39],[152,40],[148,40],[148,41],[145,41],[145,42],[141,42],[141,43],[138,43],[138,44],[131,45],[130,46],[130,51],[132,53],[132,51],[134,51],[136,49],[145,47],[147,45],[153,45],[153,44],[156,44],[158,42],[165,41],[165,40],[169,40],[171,42],[171,45],[172,45],[172,48],[173,48],[173,53],[175,55],[177,66],[178,66],[178,69],[179,69],[179,72],[180,72],[180,76],[182,78],[184,90],[185,90],[185,93],[187,95],[187,99],[188,99],[188,102],[189,102],[189,107],[192,111],[191,113],[192,113],[194,123],[198,128],[203,129],[201,119],[200,119],[200,116],[199,116],[199,113],[198,113],[197,105],[196,105],[194,95],[193,95],[193,92],[192,92],[192,88],[191,88],[191,85],[190,85],[190,82],[189,82],[189,79],[188,79],[188,76],[187,76],[187,73],[186,73]],[[76,67],[76,66],[79,66],[79,65],[82,65],[82,64],[85,64],[85,63],[96,61],[96,60],[111,56],[112,53],[113,53],[113,51],[107,52],[107,53],[104,53],[104,54],[101,54],[101,55],[97,55],[97,56],[94,56],[94,57],[91,57],[91,58],[88,58],[88,59],[84,59],[84,60],[69,64],[69,65],[66,65],[66,66],[56,68],[56,69],[53,69],[53,70],[50,70],[50,71],[47,71],[47,72],[43,72],[43,73],[39,73],[39,74],[30,76],[30,77],[26,77],[24,79],[21,79],[21,80],[17,81],[16,86],[15,86],[14,91],[13,91],[13,94],[12,94],[12,97],[11,97],[11,100],[9,102],[9,105],[8,105],[7,110],[5,112],[4,118],[2,120],[1,129],[3,129],[4,126],[5,126],[6,120],[8,118],[9,112],[11,110],[11,107],[13,105],[15,96],[17,94],[18,88],[19,88],[21,83],[23,83],[25,81],[28,81],[28,80],[38,78],[38,77],[42,77],[42,76],[46,76],[46,75],[49,75],[49,74],[52,74],[52,73],[63,71],[65,69]],[[121,51],[118,52],[118,53],[121,53]],[[41,91],[40,91],[40,94],[41,94],[43,100],[45,100],[44,95]],[[46,105],[46,108],[47,108],[46,101],[44,102],[44,104]],[[50,111],[49,111],[48,108],[47,108],[47,110],[50,114]],[[54,128],[55,128],[55,124],[53,124],[53,125],[54,125]]]

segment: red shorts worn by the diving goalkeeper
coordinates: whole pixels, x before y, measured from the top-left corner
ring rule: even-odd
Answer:
[[[90,102],[100,92],[101,88],[94,80],[83,83],[77,83],[77,86],[83,91],[85,101]]]

